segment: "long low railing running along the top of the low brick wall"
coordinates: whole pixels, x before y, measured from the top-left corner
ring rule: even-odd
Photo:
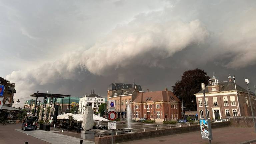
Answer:
[[[228,121],[229,119],[217,119],[217,120],[211,120],[211,123],[216,123],[216,122],[223,122],[223,121]],[[136,124],[136,123],[133,123]],[[191,125],[199,125],[199,121],[195,122],[187,122],[187,123],[177,123],[177,124],[166,124],[166,125],[157,125],[157,126],[152,126],[152,127],[144,127],[144,128],[132,128],[132,129],[124,129],[124,130],[115,130],[113,131],[113,135],[118,135],[118,134],[125,134],[125,133],[134,133],[134,132],[141,132],[141,131],[150,131],[150,130],[161,130],[161,129],[169,129],[173,127],[182,127],[182,126],[191,126]],[[107,132],[98,132],[95,133],[95,137],[102,137],[102,136],[107,136],[111,135],[111,131]]]

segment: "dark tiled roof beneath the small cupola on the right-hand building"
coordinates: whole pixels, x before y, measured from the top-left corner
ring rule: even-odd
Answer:
[[[208,86],[212,86],[212,84],[208,84],[206,87],[208,87]],[[246,89],[239,86],[238,84],[236,84],[236,89],[235,89],[235,82],[234,81],[219,82],[219,86],[222,86],[222,89],[220,91],[232,91],[232,90],[237,89],[237,91],[248,93],[248,91]],[[199,93],[203,93],[202,90],[200,90],[197,94],[199,94]],[[208,93],[208,88],[205,89],[205,93]]]

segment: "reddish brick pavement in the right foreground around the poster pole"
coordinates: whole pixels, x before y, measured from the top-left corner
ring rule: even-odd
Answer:
[[[212,129],[212,144],[239,144],[240,142],[255,139],[253,127],[223,127]],[[200,131],[183,134],[141,139],[120,144],[208,144],[208,140],[201,138]],[[256,143],[251,143],[256,144]]]

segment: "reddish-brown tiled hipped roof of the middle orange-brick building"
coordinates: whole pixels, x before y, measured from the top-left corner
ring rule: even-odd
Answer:
[[[168,96],[167,96],[168,92]],[[133,102],[141,101],[146,102],[146,101],[177,101],[180,102],[180,99],[177,98],[171,91],[153,91],[153,92],[144,92],[144,93],[139,93],[136,100],[134,99]]]

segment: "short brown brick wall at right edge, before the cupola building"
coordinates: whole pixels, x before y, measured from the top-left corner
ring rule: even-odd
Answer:
[[[252,117],[230,117],[230,122],[231,126],[254,127]]]

